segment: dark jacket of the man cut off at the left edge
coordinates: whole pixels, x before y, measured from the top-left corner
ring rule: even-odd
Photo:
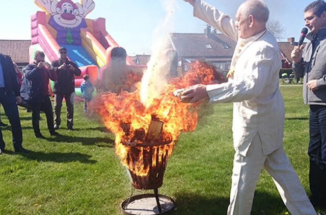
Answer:
[[[5,80],[5,92],[19,96],[19,84],[17,82],[17,74],[11,58],[0,53],[0,60]]]

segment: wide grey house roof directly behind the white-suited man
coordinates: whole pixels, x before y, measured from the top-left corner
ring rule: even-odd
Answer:
[[[170,42],[182,58],[231,61],[236,42],[223,34],[171,33]]]

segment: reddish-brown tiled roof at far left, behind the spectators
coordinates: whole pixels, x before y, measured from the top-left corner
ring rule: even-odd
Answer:
[[[31,40],[0,40],[0,53],[11,57],[15,63],[29,63]]]

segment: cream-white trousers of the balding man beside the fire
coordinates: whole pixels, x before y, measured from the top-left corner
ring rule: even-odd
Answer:
[[[273,178],[285,206],[292,215],[317,214],[283,147],[264,155],[257,133],[247,156],[235,152],[228,215],[250,214],[256,183],[263,167]]]

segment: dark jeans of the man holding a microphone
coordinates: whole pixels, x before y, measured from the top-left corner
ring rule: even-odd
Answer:
[[[326,105],[310,105],[309,115],[310,200],[326,206]]]

